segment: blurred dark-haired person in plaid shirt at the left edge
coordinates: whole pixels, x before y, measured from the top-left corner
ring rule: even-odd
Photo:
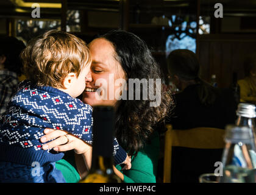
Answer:
[[[25,47],[23,41],[15,37],[0,38],[0,116],[18,87],[23,67],[20,54]]]

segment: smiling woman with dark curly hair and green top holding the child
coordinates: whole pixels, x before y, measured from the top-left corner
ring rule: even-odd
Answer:
[[[113,105],[116,108],[116,138],[132,156],[131,169],[121,171],[121,167],[116,166],[114,171],[124,182],[155,182],[159,153],[157,129],[164,121],[168,107],[172,103],[168,91],[162,90],[162,84],[160,89],[156,89],[158,91],[156,98],[152,100],[152,97],[149,97],[158,87],[156,79],[160,79],[160,69],[144,41],[123,30],[110,31],[91,41],[88,46],[93,62],[90,73],[87,75],[83,102],[92,106]],[[136,94],[138,88],[133,90],[133,85],[129,85],[129,79],[154,79],[154,87],[147,85],[146,91],[149,93],[145,98],[144,85],[140,85],[140,97],[138,97]],[[101,83],[107,99],[100,99],[96,92],[99,88],[99,80],[107,82],[107,85]],[[121,86],[112,85],[116,82]],[[133,93],[129,93],[130,90],[133,90]],[[133,98],[131,98],[132,94]],[[160,105],[152,106],[151,103],[154,103],[157,98],[160,98],[160,102],[158,101]],[[67,141],[63,136],[65,134],[60,130],[48,130],[46,140],[57,138],[48,143],[49,147],[55,147],[57,151],[74,149],[77,154],[82,154],[90,166],[91,148],[75,137],[65,144]],[[64,145],[61,146],[62,144]]]

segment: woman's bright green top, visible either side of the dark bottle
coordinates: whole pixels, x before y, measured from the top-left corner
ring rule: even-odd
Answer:
[[[157,174],[157,163],[158,155],[160,152],[159,135],[157,132],[152,133],[151,143],[147,144],[143,150],[139,151],[137,156],[132,156],[132,168],[129,170],[121,171],[121,166],[116,165],[116,168],[124,174],[125,183],[155,183],[155,176]],[[60,163],[63,165],[63,161],[59,160],[56,162],[56,168],[62,171],[62,174],[68,183],[78,182],[78,173],[74,172],[74,161],[69,161],[74,167],[65,163],[65,166],[59,166]],[[72,166],[72,168],[70,167]]]

